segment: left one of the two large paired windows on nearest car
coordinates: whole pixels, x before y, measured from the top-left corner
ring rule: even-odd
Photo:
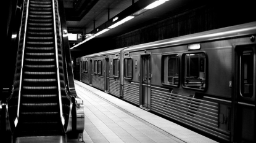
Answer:
[[[164,55],[162,57],[162,83],[167,85],[173,85],[177,87],[179,85],[179,55]]]

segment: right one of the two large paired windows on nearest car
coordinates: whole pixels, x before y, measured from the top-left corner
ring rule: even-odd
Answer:
[[[186,53],[183,55],[183,87],[205,90],[206,63],[205,53]]]

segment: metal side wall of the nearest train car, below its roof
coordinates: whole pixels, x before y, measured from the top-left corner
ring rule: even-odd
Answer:
[[[123,99],[143,109],[152,110],[178,122],[193,126],[212,136],[231,141],[231,131],[233,129],[231,128],[231,122],[234,120],[234,118],[231,118],[231,112],[234,112],[232,102],[235,96],[233,95],[233,66],[235,62],[233,59],[233,45],[251,43],[250,37],[211,42],[199,41],[199,43],[200,50],[188,51],[188,45],[181,45],[124,52],[124,54],[129,55],[125,56],[124,60],[130,59],[132,61],[130,64],[132,65],[132,77],[125,77]],[[151,69],[147,69],[150,70],[149,72],[145,72],[147,66],[144,66],[144,57],[147,54],[151,57],[150,64],[154,65]],[[188,58],[186,56],[197,55],[199,59],[196,60],[194,58],[194,61],[202,61],[203,64],[199,63],[198,65],[204,68],[198,70],[197,79],[191,80],[194,83],[186,82],[186,78],[188,78],[186,75],[186,71],[188,71],[186,69],[188,62],[186,61],[188,61]],[[168,56],[179,57],[179,72],[176,76],[177,79],[175,79],[177,82],[175,85],[171,85],[170,82],[163,83],[163,74],[165,74],[163,66],[166,66],[163,64],[163,58]],[[125,63],[124,67],[126,68]],[[124,72],[128,69],[124,69]],[[151,75],[146,75],[145,73],[150,73]],[[151,77],[151,82],[147,87],[150,88],[151,93],[144,89],[146,87],[144,80],[149,77]],[[173,79],[171,82],[173,82]],[[199,82],[200,80],[198,79],[204,80],[204,85],[201,85],[202,82]],[[149,100],[147,101],[149,102],[147,107],[144,104],[146,102],[145,98]],[[255,108],[255,105],[252,106]],[[252,114],[255,112],[254,108],[240,110],[242,110],[241,112],[250,112]],[[255,116],[252,115],[251,118],[255,119]],[[246,125],[244,119],[240,120]],[[250,128],[249,125],[247,126]],[[255,124],[252,126],[255,126]],[[248,133],[249,131],[244,132]],[[252,132],[252,134],[255,134],[255,131]],[[250,138],[253,141],[253,137]]]

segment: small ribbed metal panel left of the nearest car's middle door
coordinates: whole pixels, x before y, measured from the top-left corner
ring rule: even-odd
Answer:
[[[125,83],[123,90],[123,99],[139,105],[139,84]]]

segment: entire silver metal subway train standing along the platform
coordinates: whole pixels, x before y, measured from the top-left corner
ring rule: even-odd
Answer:
[[[76,58],[76,79],[220,141],[256,142],[256,22]]]

